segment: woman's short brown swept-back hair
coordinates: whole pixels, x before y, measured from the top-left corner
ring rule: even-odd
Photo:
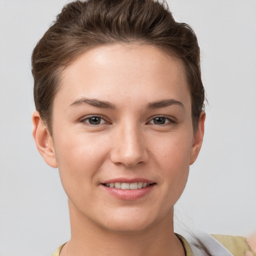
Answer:
[[[204,88],[192,28],[176,22],[164,1],[76,0],[63,7],[32,53],[35,107],[49,132],[61,71],[82,52],[118,42],[154,45],[182,60],[195,131],[204,107]]]

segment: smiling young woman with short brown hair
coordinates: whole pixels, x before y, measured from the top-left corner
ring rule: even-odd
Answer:
[[[153,0],[75,1],[34,48],[32,73],[33,137],[68,196],[71,238],[53,255],[232,255],[173,231],[205,120],[188,25]]]

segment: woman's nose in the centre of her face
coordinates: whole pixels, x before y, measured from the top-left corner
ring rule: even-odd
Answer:
[[[135,166],[148,160],[146,141],[136,125],[123,125],[115,134],[110,153],[113,163]]]

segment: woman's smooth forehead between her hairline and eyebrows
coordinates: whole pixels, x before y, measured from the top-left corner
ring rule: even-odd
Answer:
[[[56,95],[70,104],[79,96],[112,100],[177,100],[190,93],[181,60],[152,45],[112,44],[81,54],[61,73]],[[118,97],[116,97],[118,95]]]

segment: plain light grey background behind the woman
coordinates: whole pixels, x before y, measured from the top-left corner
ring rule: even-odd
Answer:
[[[58,172],[33,143],[31,51],[66,0],[0,0],[0,256],[49,255],[69,237]],[[169,0],[202,50],[205,138],[176,227],[256,229],[256,1]],[[183,223],[183,224],[182,224]]]

